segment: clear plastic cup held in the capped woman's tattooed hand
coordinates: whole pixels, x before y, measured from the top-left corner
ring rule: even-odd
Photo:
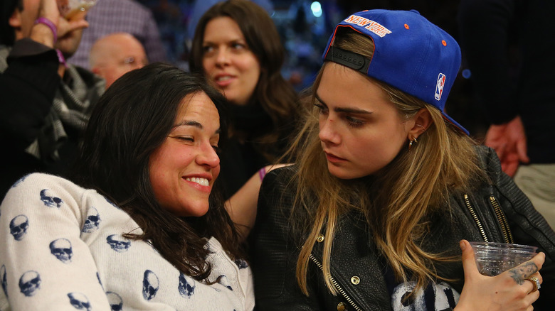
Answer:
[[[495,242],[470,242],[478,271],[498,275],[536,256],[536,246]]]

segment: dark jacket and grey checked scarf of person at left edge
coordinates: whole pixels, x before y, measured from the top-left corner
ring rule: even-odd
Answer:
[[[75,126],[75,121],[68,123],[57,111],[67,109],[72,119],[83,116],[88,120],[105,82],[73,65],[68,65],[64,79],[60,79],[56,50],[29,38],[17,40],[11,50],[1,46],[0,54],[1,201],[9,187],[24,175],[69,173],[86,121]],[[63,137],[51,139],[61,132]],[[38,151],[40,156],[28,153],[29,146],[38,146],[33,152]],[[51,156],[54,151],[56,157]]]

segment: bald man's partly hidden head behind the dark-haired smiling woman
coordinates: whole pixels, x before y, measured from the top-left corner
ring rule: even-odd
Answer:
[[[90,69],[106,80],[106,87],[125,73],[147,63],[142,44],[128,33],[100,38],[90,50]]]

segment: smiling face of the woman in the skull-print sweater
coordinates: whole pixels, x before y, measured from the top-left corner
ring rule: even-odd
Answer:
[[[154,196],[180,217],[208,212],[208,196],[220,173],[215,148],[220,139],[218,109],[205,93],[181,101],[174,127],[149,158]]]

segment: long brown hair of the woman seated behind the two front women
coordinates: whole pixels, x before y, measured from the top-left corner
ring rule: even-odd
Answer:
[[[189,62],[191,71],[205,73],[202,65],[204,31],[209,21],[221,16],[236,21],[248,48],[260,62],[260,77],[249,104],[260,104],[272,119],[271,128],[263,133],[255,133],[255,138],[262,143],[260,151],[268,160],[275,160],[270,154],[276,154],[276,141],[290,135],[299,114],[297,93],[281,75],[285,49],[280,35],[272,18],[253,1],[219,2],[203,14],[196,26]]]

